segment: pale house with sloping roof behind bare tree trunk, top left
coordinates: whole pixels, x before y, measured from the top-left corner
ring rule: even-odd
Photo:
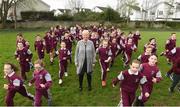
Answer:
[[[50,11],[50,6],[42,0],[24,0],[17,3],[16,15],[17,20],[21,20],[21,12],[25,11]],[[8,20],[13,20],[14,17],[14,6],[8,11]]]

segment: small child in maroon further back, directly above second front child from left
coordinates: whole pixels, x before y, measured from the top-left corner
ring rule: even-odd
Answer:
[[[34,43],[35,51],[38,53],[38,57],[40,60],[44,58],[44,51],[45,51],[45,43],[40,37],[40,35],[36,36],[36,41]]]

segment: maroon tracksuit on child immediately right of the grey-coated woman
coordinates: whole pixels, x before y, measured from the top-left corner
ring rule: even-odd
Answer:
[[[103,48],[103,47],[100,47],[97,51],[98,51],[97,53],[99,53],[99,62],[102,71],[101,78],[102,81],[105,81],[107,75],[107,68],[109,67],[109,62],[105,62],[105,60],[107,60],[109,57],[112,56],[112,52],[109,48]]]

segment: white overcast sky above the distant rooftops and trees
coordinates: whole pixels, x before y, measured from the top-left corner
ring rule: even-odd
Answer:
[[[68,8],[68,0],[43,0],[51,6],[52,9]],[[85,8],[94,8],[95,6],[111,6],[116,9],[117,0],[84,0]]]

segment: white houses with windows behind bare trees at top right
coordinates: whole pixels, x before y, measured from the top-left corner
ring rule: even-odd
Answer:
[[[166,2],[159,0],[146,10],[142,6],[129,6],[132,8],[130,20],[132,21],[180,21],[180,1]]]

